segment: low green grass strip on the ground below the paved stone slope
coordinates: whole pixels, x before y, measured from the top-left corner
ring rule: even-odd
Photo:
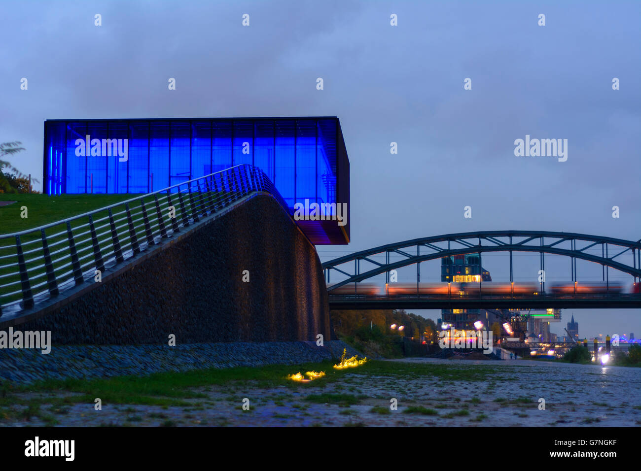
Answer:
[[[15,417],[16,411],[22,412],[22,417],[36,417],[40,414],[39,407],[46,404],[49,413],[64,414],[71,404],[90,404],[99,397],[103,406],[106,404],[153,405],[167,409],[170,406],[181,408],[202,408],[203,401],[210,398],[210,394],[203,392],[204,388],[224,386],[225,393],[222,400],[227,400],[233,406],[240,406],[244,393],[240,392],[251,384],[253,388],[283,388],[283,392],[274,395],[275,404],[338,404],[349,407],[362,403],[367,396],[358,392],[324,391],[328,386],[337,386],[350,379],[358,377],[367,381],[376,381],[379,384],[388,380],[424,379],[426,377],[447,379],[449,381],[484,381],[496,370],[483,365],[469,370],[454,365],[417,364],[417,363],[390,363],[387,361],[370,360],[364,365],[348,370],[333,370],[335,361],[321,363],[303,363],[297,365],[265,365],[262,367],[236,367],[236,368],[210,368],[192,370],[187,372],[162,372],[149,376],[119,376],[103,379],[48,379],[38,381],[27,386],[15,386],[8,382],[0,381],[0,421],[8,416]],[[309,383],[296,383],[287,379],[287,376],[296,372],[325,371],[326,376],[310,381]],[[236,391],[239,391],[238,393]],[[22,393],[38,393],[27,397]],[[71,394],[67,394],[71,393]],[[194,399],[196,401],[195,404]],[[476,401],[471,401],[472,404]],[[468,403],[469,404],[469,403]],[[438,404],[440,406],[441,404]],[[252,410],[256,402],[251,402]],[[260,407],[260,401],[258,402]],[[372,409],[383,413],[381,407]],[[412,406],[410,411],[425,413],[435,409]],[[137,416],[133,407],[124,410],[128,416]],[[466,411],[467,412],[467,411]],[[428,412],[431,414],[432,412]],[[461,413],[461,412],[459,412]],[[40,414],[41,415],[41,414]],[[147,416],[151,417],[151,416]],[[158,418],[165,419],[162,414]],[[131,421],[129,422],[131,423]]]

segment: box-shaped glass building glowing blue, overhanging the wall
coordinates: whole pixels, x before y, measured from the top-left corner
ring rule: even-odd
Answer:
[[[337,117],[44,123],[49,195],[146,194],[242,163],[267,174],[292,214],[296,202],[347,203],[344,226],[297,224],[314,244],[349,242],[349,159]]]

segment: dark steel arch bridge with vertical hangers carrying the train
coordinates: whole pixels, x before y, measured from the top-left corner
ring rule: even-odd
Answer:
[[[588,253],[592,247],[601,246],[601,256]],[[594,250],[594,249],[593,249]],[[641,240],[637,242],[606,236],[552,231],[479,231],[430,236],[405,240],[394,244],[381,245],[365,251],[354,252],[322,264],[326,282],[330,282],[331,272],[345,276],[345,279],[329,286],[329,305],[332,309],[453,309],[453,308],[641,308],[638,294],[606,293],[606,295],[575,295],[556,297],[545,293],[545,281],[540,283],[540,293],[531,298],[511,296],[496,297],[483,294],[479,283],[479,293],[472,297],[424,296],[419,294],[420,263],[454,255],[481,254],[484,252],[509,252],[510,283],[513,282],[513,252],[538,252],[540,269],[545,270],[545,254],[566,256],[570,261],[571,279],[577,282],[576,260],[598,263],[602,267],[603,281],[609,283],[610,269],[619,270],[633,277],[635,283],[641,281]],[[374,256],[385,254],[385,263],[373,260]],[[390,261],[390,254],[399,254],[401,260]],[[361,263],[369,267],[361,269]],[[370,277],[386,274],[390,281],[390,271],[416,265],[417,293],[406,296],[372,296],[354,294],[333,294],[332,291],[348,283],[360,283]],[[350,269],[351,266],[351,269]]]

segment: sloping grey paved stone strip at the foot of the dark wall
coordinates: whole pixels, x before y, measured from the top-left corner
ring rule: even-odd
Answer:
[[[146,375],[273,364],[296,364],[360,355],[340,340],[324,342],[229,342],[176,345],[54,345],[51,353],[0,350],[0,379],[26,384],[38,379]]]

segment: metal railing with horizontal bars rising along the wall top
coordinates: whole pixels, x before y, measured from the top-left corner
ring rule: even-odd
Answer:
[[[33,308],[74,283],[81,285],[96,270],[104,272],[253,192],[271,194],[290,213],[267,175],[258,167],[241,164],[68,219],[0,235],[0,316],[3,308]],[[169,217],[171,207],[174,217]],[[54,233],[47,235],[47,229],[54,227]],[[14,243],[6,243],[10,241]],[[4,263],[10,260],[13,263]]]

